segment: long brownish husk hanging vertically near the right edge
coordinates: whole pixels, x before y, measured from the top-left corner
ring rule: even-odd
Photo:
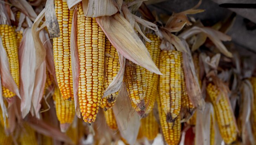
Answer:
[[[240,119],[242,120],[242,141],[246,145],[248,142],[251,145],[255,145],[254,136],[252,133],[252,127],[250,122],[250,115],[251,115],[251,106],[253,104],[253,87],[249,80],[244,80],[242,83],[242,114],[240,115]]]

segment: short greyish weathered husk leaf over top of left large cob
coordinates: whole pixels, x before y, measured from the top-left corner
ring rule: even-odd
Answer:
[[[50,35],[50,38],[56,38],[61,35],[60,27],[58,25],[57,16],[54,10],[54,1],[47,0],[45,4],[45,21]]]

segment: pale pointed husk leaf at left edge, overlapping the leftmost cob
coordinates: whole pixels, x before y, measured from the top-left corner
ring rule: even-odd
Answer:
[[[2,86],[6,87],[13,93],[15,93],[20,98],[20,93],[17,84],[13,80],[11,76],[9,60],[7,57],[7,53],[4,50],[4,46],[2,44],[2,39],[0,38],[0,74],[2,77]]]

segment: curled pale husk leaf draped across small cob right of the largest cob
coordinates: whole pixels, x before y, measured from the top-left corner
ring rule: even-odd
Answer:
[[[124,58],[124,56],[122,54],[120,54],[119,52],[118,52],[118,56],[119,56],[120,69],[119,69],[117,75],[115,76],[115,78],[108,85],[108,88],[104,92],[104,95],[102,98],[119,91],[123,84],[126,58]]]

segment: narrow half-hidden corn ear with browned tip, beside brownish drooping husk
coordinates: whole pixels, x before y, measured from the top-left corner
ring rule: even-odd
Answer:
[[[182,52],[180,52],[180,59],[181,59],[181,108],[183,110],[182,118],[186,118],[187,116],[191,116],[194,113],[195,107],[191,102],[191,99],[189,98],[189,95],[187,94],[187,91],[186,91],[186,80],[184,77]]]

